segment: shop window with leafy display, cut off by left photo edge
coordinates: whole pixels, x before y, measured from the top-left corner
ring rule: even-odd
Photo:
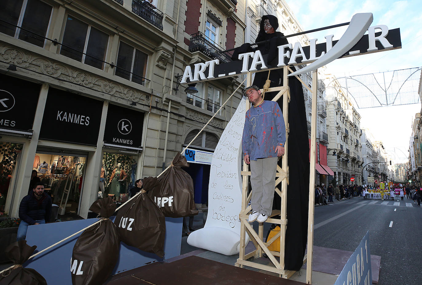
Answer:
[[[22,144],[0,142],[0,212],[4,212],[10,180],[21,151]]]

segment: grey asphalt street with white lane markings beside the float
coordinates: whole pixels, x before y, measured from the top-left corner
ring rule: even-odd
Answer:
[[[314,221],[320,247],[354,251],[369,231],[371,254],[381,256],[380,285],[422,284],[422,207],[412,200],[354,197],[317,206]]]

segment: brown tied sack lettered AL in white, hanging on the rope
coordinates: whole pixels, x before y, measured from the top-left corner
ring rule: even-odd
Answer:
[[[90,211],[99,214],[101,222],[78,237],[70,260],[73,285],[100,285],[110,276],[119,257],[119,234],[108,219],[116,210],[113,198],[95,201]]]

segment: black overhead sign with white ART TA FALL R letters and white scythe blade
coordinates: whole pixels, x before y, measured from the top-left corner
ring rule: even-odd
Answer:
[[[308,64],[289,76],[316,70],[333,60],[372,52],[380,52],[401,48],[400,29],[388,30],[386,25],[371,26],[372,13],[355,14],[346,32],[338,41],[333,41],[334,35],[327,35],[326,43],[317,44],[317,39],[311,39],[309,46],[302,47],[299,42],[278,46],[278,62],[273,65],[266,63],[266,55],[259,50],[239,55],[239,60],[219,64],[219,60],[196,63],[193,68],[187,66],[181,83],[206,81],[214,78],[235,76],[250,71],[270,70],[285,65]],[[366,31],[368,34],[365,35]]]

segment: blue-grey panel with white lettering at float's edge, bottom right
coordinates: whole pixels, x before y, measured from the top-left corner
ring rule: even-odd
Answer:
[[[369,249],[369,231],[366,232],[359,246],[350,256],[334,285],[370,285],[372,284],[371,250]]]

